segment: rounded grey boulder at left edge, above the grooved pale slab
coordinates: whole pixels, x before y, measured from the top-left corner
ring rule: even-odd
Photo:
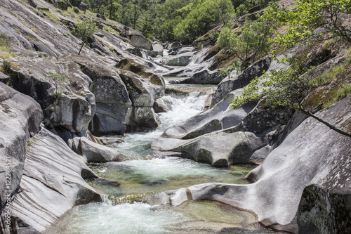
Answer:
[[[0,82],[0,207],[6,193],[15,194],[25,164],[27,138],[39,131],[43,119],[40,105],[10,86]],[[11,180],[6,174],[11,174]],[[8,187],[7,187],[8,186]],[[6,192],[8,191],[8,192]]]

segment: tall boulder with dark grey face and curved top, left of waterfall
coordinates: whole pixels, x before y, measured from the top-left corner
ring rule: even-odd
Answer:
[[[86,56],[69,55],[64,58],[71,61],[72,66],[79,65],[79,71],[84,73],[90,82],[88,87],[95,96],[95,115],[90,125],[91,132],[96,136],[124,134],[133,115],[133,103],[126,84],[117,71],[103,61],[96,63]]]

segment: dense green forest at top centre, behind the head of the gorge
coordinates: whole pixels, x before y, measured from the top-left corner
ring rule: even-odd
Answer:
[[[183,42],[193,41],[217,25],[258,11],[270,1],[84,0],[90,11],[140,30],[149,39]]]

